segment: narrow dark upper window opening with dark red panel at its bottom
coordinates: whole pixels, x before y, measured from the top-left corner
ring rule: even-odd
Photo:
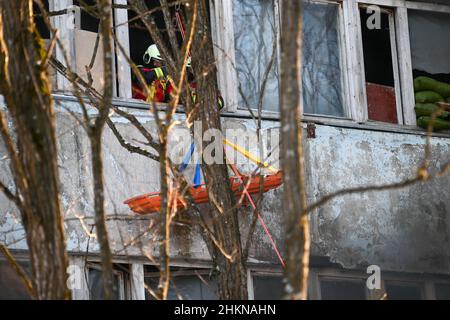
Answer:
[[[391,12],[380,12],[380,28],[369,28],[373,13],[360,8],[367,107],[370,120],[398,123],[391,43]],[[370,25],[370,27],[372,27]]]

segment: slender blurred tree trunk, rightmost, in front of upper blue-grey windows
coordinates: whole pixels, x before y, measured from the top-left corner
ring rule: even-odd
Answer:
[[[282,24],[280,155],[283,170],[289,173],[284,175],[283,191],[286,293],[291,299],[307,299],[310,235],[301,129],[301,1],[282,2]]]

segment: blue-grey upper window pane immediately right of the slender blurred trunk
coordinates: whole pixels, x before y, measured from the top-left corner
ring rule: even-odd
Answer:
[[[344,116],[339,4],[305,2],[303,14],[303,109]]]

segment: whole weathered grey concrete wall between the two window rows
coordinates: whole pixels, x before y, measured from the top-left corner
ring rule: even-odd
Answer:
[[[70,103],[66,105],[70,107]],[[156,133],[152,117],[144,112],[139,116],[145,126]],[[125,121],[115,119],[115,122],[128,140],[144,140]],[[278,131],[278,122],[263,123],[266,132]],[[226,118],[224,128],[240,128],[253,136],[256,131],[253,120],[245,119]],[[83,129],[66,112],[58,113],[58,135],[67,245],[73,252],[97,252],[95,238],[87,236],[93,223],[89,141]],[[424,155],[425,139],[420,135],[326,125],[317,125],[316,135],[305,143],[310,201],[344,187],[393,183],[411,177]],[[272,149],[276,143],[275,138],[270,140],[266,149]],[[432,167],[440,167],[450,159],[450,139],[435,137],[432,145]],[[250,142],[246,147],[257,153],[257,144]],[[108,226],[115,253],[142,256],[145,251],[156,255],[156,220],[136,217],[122,202],[159,189],[158,164],[130,154],[109,129],[105,130],[103,150]],[[1,159],[4,153],[0,146]],[[11,185],[7,162],[7,159],[0,161],[0,179]],[[240,169],[249,172],[254,166],[241,165]],[[402,190],[337,198],[311,216],[313,254],[351,268],[378,264],[383,270],[450,273],[449,190],[450,176],[447,176]],[[266,194],[262,215],[282,250],[281,192],[280,188]],[[246,234],[251,210],[242,212],[241,217],[243,234]],[[2,195],[0,242],[6,242],[11,248],[26,248],[19,215]],[[187,226],[174,227],[172,255],[181,259],[209,258],[198,232]],[[254,235],[251,258],[252,261],[277,263],[260,225]]]

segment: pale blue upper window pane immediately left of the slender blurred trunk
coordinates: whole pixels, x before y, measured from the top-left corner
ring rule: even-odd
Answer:
[[[279,74],[273,0],[233,0],[233,26],[241,88],[238,89],[239,107],[258,109],[261,103],[263,110],[277,111]]]

